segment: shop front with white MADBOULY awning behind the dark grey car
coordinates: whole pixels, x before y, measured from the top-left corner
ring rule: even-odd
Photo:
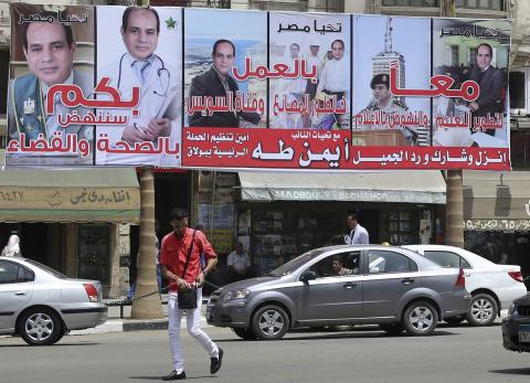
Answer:
[[[370,243],[432,243],[443,235],[446,185],[439,171],[239,178],[237,241],[257,275],[308,249],[343,244],[349,212],[359,214]]]

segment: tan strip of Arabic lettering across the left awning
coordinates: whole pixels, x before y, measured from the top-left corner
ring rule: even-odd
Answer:
[[[131,210],[139,206],[135,188],[18,188],[0,191],[2,209]]]

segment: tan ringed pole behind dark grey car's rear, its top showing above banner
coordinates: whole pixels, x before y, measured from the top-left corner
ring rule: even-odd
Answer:
[[[442,0],[442,17],[456,18],[455,0]],[[445,244],[464,247],[464,191],[462,169],[447,170]]]

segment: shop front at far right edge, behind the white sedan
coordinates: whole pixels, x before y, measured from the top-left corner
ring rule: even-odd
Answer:
[[[465,247],[530,275],[530,171],[464,171]]]

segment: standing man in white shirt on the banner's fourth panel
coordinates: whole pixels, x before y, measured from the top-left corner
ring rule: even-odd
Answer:
[[[326,63],[318,81],[317,94],[324,92],[328,95],[336,96],[337,102],[343,98],[348,99],[348,89],[350,87],[350,65],[344,58],[344,42],[335,40],[331,43],[332,58]],[[348,113],[336,115],[340,128],[349,128]]]

